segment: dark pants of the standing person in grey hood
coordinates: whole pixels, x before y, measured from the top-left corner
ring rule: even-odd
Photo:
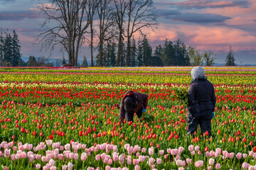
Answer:
[[[197,131],[198,125],[200,125],[201,128],[201,134],[208,131],[209,136],[211,136],[211,117],[212,117],[212,110],[207,111],[200,111],[199,113],[190,113],[188,111],[188,135],[193,135],[194,132]]]

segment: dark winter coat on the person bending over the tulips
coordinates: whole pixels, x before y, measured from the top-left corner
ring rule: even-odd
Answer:
[[[129,111],[129,113],[137,113],[138,111],[141,111],[143,108],[146,109],[146,107],[148,106],[148,96],[146,94],[140,94],[137,92],[134,92],[134,94],[136,95],[137,106],[135,106],[132,109],[132,111]],[[126,111],[124,110],[124,102],[121,101],[120,110],[119,110],[119,119],[124,118],[125,113]]]

